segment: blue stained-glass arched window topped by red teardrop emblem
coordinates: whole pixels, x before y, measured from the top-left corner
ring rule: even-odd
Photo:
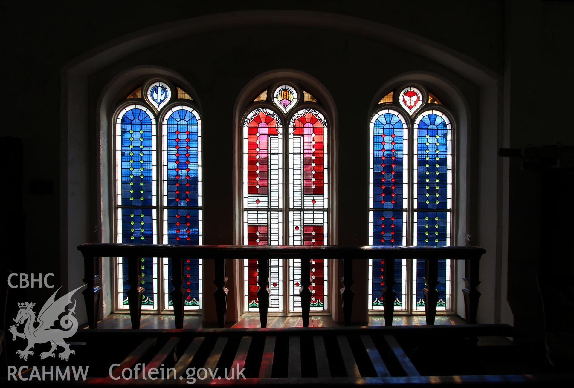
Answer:
[[[396,99],[395,97],[396,96]],[[383,97],[370,123],[369,244],[451,245],[452,119],[422,85]],[[425,261],[395,260],[395,311],[424,310]],[[383,306],[383,265],[369,262],[369,308]],[[451,310],[451,261],[439,261],[437,310]]]

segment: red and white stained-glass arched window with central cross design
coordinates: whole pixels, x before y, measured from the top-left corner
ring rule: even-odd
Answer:
[[[252,97],[253,98],[253,97]],[[254,96],[243,116],[242,198],[245,245],[327,245],[328,120],[295,83]],[[269,262],[269,311],[300,311],[300,260]],[[328,260],[311,260],[311,309],[328,309]],[[258,262],[246,259],[245,311],[256,311]]]

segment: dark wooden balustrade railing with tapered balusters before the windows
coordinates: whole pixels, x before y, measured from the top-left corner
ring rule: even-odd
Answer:
[[[343,316],[345,326],[351,324],[351,311],[354,292],[351,287],[355,282],[353,278],[353,261],[374,260],[383,261],[383,304],[385,305],[385,325],[393,324],[394,300],[396,293],[393,291],[395,259],[418,259],[425,260],[425,283],[423,290],[425,296],[426,323],[434,324],[438,291],[436,290],[439,272],[439,260],[464,260],[464,307],[467,323],[476,323],[476,311],[480,293],[476,286],[480,283],[478,278],[479,260],[486,251],[478,246],[247,246],[247,245],[160,245],[160,244],[109,244],[90,243],[77,247],[84,257],[84,282],[88,285],[83,292],[86,300],[88,324],[90,328],[96,328],[98,323],[98,310],[102,304],[102,275],[100,273],[102,257],[127,258],[128,273],[127,283],[130,286],[127,291],[130,308],[131,325],[139,328],[141,317],[141,265],[142,257],[169,257],[173,264],[172,291],[173,312],[176,328],[183,327],[184,316],[184,272],[183,263],[188,258],[202,258],[211,260],[214,265],[217,287],[214,292],[215,307],[217,311],[218,325],[224,327],[226,322],[227,292],[225,287],[227,276],[225,269],[226,260],[244,258],[257,258],[259,260],[259,315],[261,327],[267,326],[267,305],[269,300],[268,284],[268,259],[270,258],[300,258],[301,273],[309,273],[311,258],[335,259],[343,262],[343,276],[341,281],[343,288],[340,289],[343,303]],[[308,276],[301,279],[301,309],[303,326],[309,325],[309,307],[311,291]],[[388,303],[387,303],[388,301]]]

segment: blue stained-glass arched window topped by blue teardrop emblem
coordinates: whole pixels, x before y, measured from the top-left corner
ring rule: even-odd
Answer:
[[[115,123],[116,241],[202,244],[201,117],[192,97],[168,80],[149,80],[120,104]],[[201,260],[185,264],[185,308],[201,309]],[[124,309],[127,261],[119,257],[115,268],[115,307]],[[142,258],[141,271],[142,309],[172,309],[171,260]]]

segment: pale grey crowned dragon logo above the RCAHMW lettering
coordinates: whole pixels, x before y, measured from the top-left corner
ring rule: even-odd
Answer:
[[[20,358],[28,360],[28,356],[34,355],[34,352],[30,349],[34,347],[37,343],[50,342],[52,348],[47,352],[40,353],[40,359],[45,359],[46,357],[55,357],[54,351],[58,346],[63,347],[64,351],[58,356],[60,359],[68,361],[71,354],[75,354],[74,350],[70,350],[70,346],[64,342],[64,338],[70,338],[72,335],[76,334],[77,331],[77,320],[73,316],[76,310],[76,300],[73,301],[73,307],[68,309],[68,314],[64,315],[60,319],[60,326],[65,330],[59,328],[54,328],[54,323],[58,320],[61,313],[65,312],[65,309],[70,303],[72,303],[73,294],[84,287],[86,284],[81,285],[73,291],[68,292],[66,295],[56,300],[56,293],[60,290],[58,288],[56,292],[49,297],[48,301],[40,309],[36,322],[36,313],[33,311],[35,303],[18,303],[20,311],[18,315],[14,318],[15,325],[12,325],[8,330],[12,333],[12,340],[16,338],[28,339],[28,346],[24,350],[17,350],[16,354],[20,355]],[[18,332],[16,330],[17,326],[22,323],[26,323],[23,332]],[[34,326],[39,323],[38,326]]]

